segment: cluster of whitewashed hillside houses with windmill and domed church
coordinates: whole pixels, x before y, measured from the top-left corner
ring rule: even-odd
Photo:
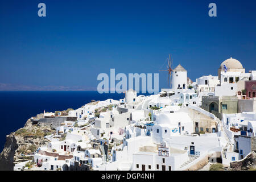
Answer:
[[[246,73],[230,58],[217,73],[192,82],[179,64],[172,88],[150,96],[129,89],[119,101],[91,102],[60,122],[53,118],[56,134],[36,151],[36,168],[195,170],[205,159],[229,167],[256,150],[256,71]]]

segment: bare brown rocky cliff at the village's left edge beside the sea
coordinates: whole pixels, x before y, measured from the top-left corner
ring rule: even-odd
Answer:
[[[15,163],[30,160],[22,154],[32,154],[38,147],[48,144],[49,140],[44,136],[52,132],[51,125],[32,125],[28,119],[23,128],[6,136],[5,148],[0,154],[0,170],[13,171]]]

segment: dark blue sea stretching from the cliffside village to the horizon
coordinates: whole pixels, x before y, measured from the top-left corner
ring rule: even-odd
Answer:
[[[99,94],[97,91],[13,91],[0,92],[0,151],[6,135],[23,127],[27,119],[36,114],[77,109],[91,100],[119,100],[124,94]]]

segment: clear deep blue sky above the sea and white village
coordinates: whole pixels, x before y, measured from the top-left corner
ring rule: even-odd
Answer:
[[[47,16],[38,16],[44,2]],[[217,17],[208,5],[217,4]],[[159,73],[171,53],[193,81],[225,59],[256,70],[255,1],[0,2],[0,83],[97,87],[97,75]],[[167,86],[166,73],[159,86]]]

